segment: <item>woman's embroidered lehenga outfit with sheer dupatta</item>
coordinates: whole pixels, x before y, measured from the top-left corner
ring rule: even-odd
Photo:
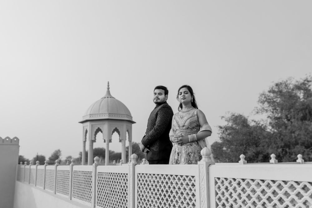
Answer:
[[[205,127],[203,128],[201,129],[201,131],[211,131],[211,127],[209,126],[209,124],[205,125]],[[184,115],[180,115],[179,113],[173,115],[172,129],[170,131],[170,135],[175,135],[177,133],[190,135],[198,133],[199,130],[200,125],[197,118],[197,109]],[[206,146],[210,148],[207,141]],[[183,145],[173,143],[169,164],[197,164],[197,162],[201,160],[201,150],[202,147],[198,144],[198,141],[189,142]],[[212,156],[211,160],[213,160]]]

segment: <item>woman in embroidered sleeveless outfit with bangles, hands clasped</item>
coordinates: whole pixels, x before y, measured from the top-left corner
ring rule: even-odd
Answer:
[[[179,112],[173,115],[169,133],[173,143],[169,164],[197,164],[201,160],[202,148],[210,148],[206,137],[211,135],[212,130],[205,114],[198,109],[190,86],[181,86],[177,99],[180,102]],[[210,159],[213,161],[212,156]]]

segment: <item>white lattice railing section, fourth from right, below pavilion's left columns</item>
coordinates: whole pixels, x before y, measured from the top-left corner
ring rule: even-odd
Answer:
[[[91,205],[92,166],[73,166],[72,200]]]

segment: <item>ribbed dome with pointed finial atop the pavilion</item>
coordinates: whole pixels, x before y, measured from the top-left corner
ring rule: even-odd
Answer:
[[[91,104],[82,118],[83,120],[79,123],[103,119],[127,120],[131,123],[135,123],[132,120],[131,113],[127,106],[110,94],[109,82],[104,97]]]

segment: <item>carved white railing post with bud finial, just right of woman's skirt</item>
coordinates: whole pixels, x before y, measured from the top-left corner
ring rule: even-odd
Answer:
[[[209,185],[208,185],[208,167],[215,164],[210,160],[211,150],[207,147],[200,151],[202,160],[197,162],[199,169],[199,187],[200,187],[200,208],[209,207]]]

